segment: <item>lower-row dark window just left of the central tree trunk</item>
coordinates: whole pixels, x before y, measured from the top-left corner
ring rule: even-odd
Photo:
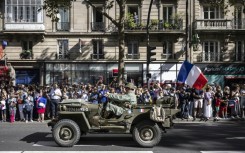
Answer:
[[[103,48],[103,40],[94,39],[93,43],[93,54],[92,59],[104,59],[104,48]]]

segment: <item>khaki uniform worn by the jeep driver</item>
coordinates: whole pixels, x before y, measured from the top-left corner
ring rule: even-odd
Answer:
[[[113,112],[113,114],[115,114],[116,116],[121,116],[124,112],[123,107],[120,106],[124,106],[125,103],[129,103],[130,105],[136,105],[137,104],[137,99],[136,99],[136,95],[134,93],[134,91],[128,91],[127,94],[108,94],[108,98],[110,99],[110,101],[115,102],[118,105],[112,104],[112,103],[108,103],[106,106],[106,111],[111,111]]]

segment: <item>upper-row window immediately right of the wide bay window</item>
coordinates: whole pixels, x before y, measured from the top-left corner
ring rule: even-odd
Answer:
[[[57,30],[69,30],[69,10],[66,8],[59,8],[59,13],[57,14],[57,17],[59,18],[59,21],[57,22]]]

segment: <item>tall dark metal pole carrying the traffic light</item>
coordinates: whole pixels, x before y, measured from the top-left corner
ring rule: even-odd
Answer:
[[[153,0],[150,2],[149,10],[148,10],[148,17],[147,17],[147,24],[146,24],[146,35],[147,35],[147,45],[146,45],[146,57],[148,57],[148,46],[150,46],[150,35],[149,35],[149,23],[150,23],[150,15],[151,15],[151,7],[152,7]],[[147,88],[149,89],[149,77],[147,77],[147,74],[149,74],[149,62],[146,59],[146,83]]]

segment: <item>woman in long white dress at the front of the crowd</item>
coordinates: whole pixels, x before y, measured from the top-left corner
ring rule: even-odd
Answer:
[[[204,120],[207,121],[212,117],[212,94],[211,94],[211,86],[206,87],[206,92],[204,93],[204,105],[203,105],[203,117]]]

